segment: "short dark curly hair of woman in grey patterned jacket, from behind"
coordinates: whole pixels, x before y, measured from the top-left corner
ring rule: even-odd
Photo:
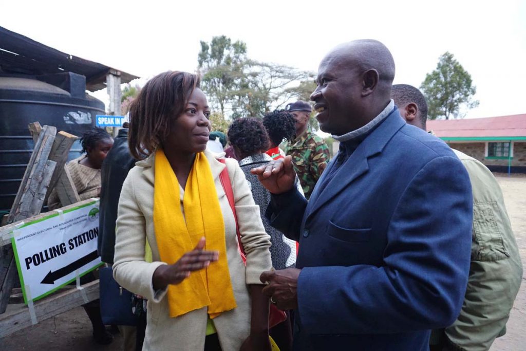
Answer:
[[[246,155],[265,152],[269,146],[267,130],[261,119],[238,118],[228,128],[228,140]]]

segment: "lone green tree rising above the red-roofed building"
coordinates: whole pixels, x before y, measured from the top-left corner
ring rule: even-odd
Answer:
[[[472,85],[471,75],[446,52],[440,56],[437,68],[426,75],[420,86],[428,102],[428,118],[463,118],[462,108],[479,105],[472,97],[477,88]]]

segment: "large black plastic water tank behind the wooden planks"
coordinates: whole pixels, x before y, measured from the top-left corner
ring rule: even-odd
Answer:
[[[33,151],[28,124],[52,125],[77,136],[105,114],[104,103],[86,94],[86,79],[74,73],[0,76],[0,211],[9,211]],[[77,141],[69,159],[79,156]]]

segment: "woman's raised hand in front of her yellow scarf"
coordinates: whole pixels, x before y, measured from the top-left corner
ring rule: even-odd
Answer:
[[[152,278],[154,290],[164,289],[168,284],[179,284],[190,276],[191,272],[206,268],[210,262],[219,258],[218,251],[205,251],[206,240],[199,239],[196,247],[179,258],[173,265],[162,265],[157,267]]]

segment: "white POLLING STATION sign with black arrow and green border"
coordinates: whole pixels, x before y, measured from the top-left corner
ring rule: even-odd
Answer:
[[[13,232],[24,301],[53,293],[102,265],[97,255],[98,200],[25,223]]]

